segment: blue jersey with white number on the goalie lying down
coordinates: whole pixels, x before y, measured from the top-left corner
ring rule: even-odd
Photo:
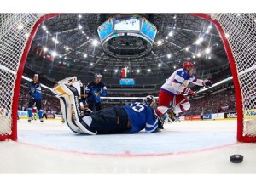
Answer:
[[[137,133],[145,128],[147,133],[153,133],[158,127],[158,119],[154,117],[154,111],[143,103],[133,103],[123,106],[131,122],[129,133]]]

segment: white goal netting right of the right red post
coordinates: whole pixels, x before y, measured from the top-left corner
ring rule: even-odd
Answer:
[[[256,141],[256,14],[211,14],[230,44],[240,82],[243,136]]]

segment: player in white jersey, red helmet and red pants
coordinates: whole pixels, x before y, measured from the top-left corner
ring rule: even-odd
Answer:
[[[163,116],[170,104],[175,103],[173,112],[178,114],[182,111],[188,111],[190,108],[189,100],[186,99],[184,94],[195,96],[195,93],[188,88],[189,82],[192,82],[199,86],[211,87],[212,82],[210,80],[201,80],[193,76],[194,65],[185,61],[183,68],[178,69],[172,73],[172,76],[166,79],[166,83],[162,85],[159,93],[159,104],[155,113],[157,116]]]

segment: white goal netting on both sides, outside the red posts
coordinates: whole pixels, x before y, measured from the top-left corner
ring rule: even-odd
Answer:
[[[210,14],[226,33],[241,87],[243,136],[256,141],[256,14]],[[0,14],[0,136],[11,134],[16,73],[32,26],[42,14]],[[21,76],[21,75],[20,75]],[[1,138],[1,137],[0,137]]]

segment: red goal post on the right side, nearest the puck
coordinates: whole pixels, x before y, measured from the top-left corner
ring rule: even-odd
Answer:
[[[249,137],[249,136],[243,136],[243,108],[242,108],[242,97],[241,97],[241,87],[240,82],[238,79],[238,73],[236,71],[236,62],[234,59],[234,56],[232,54],[230,44],[225,37],[224,30],[222,26],[218,23],[217,20],[212,20],[210,15],[207,14],[193,14],[197,17],[200,17],[205,20],[210,20],[218,29],[218,33],[222,39],[222,42],[224,43],[224,48],[226,51],[226,54],[228,56],[229,62],[230,62],[230,70],[233,76],[233,82],[234,82],[234,88],[235,88],[235,94],[236,94],[236,113],[237,113],[237,132],[236,132],[236,139],[239,142],[253,142],[255,141],[255,138]]]

